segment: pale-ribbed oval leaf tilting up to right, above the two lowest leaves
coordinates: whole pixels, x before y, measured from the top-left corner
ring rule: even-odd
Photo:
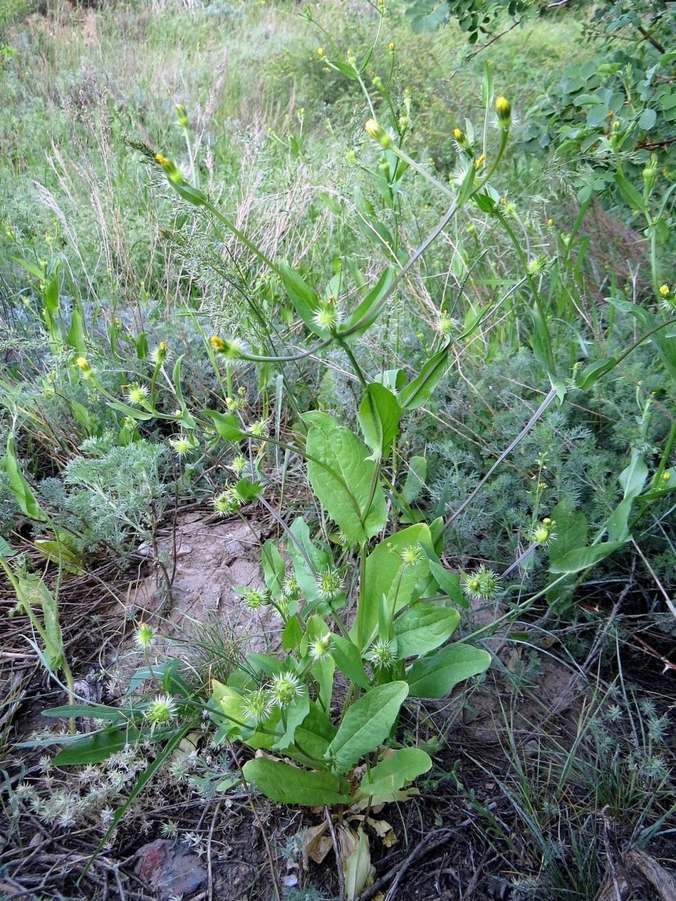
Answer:
[[[408,695],[406,682],[388,682],[372,688],[348,707],[329,744],[326,757],[331,761],[331,769],[346,772],[365,754],[379,748],[390,734]]]

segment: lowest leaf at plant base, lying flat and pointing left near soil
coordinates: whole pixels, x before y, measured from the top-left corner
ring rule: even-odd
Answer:
[[[299,769],[281,760],[259,757],[242,767],[244,778],[259,792],[280,804],[349,804],[347,780],[318,769]]]

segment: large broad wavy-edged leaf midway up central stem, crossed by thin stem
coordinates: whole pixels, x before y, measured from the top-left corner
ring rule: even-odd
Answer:
[[[366,459],[356,435],[328,414],[311,412],[301,419],[311,426],[306,450],[312,490],[347,539],[363,544],[387,522],[374,461]]]

